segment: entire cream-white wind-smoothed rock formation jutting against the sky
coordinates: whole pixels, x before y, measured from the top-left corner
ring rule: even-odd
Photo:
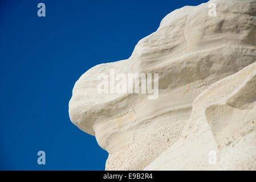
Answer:
[[[185,6],[166,15],[129,59],[84,73],[70,119],[108,151],[107,170],[256,169],[255,61],[255,0]],[[157,97],[112,93],[113,70],[127,76],[126,90],[129,73],[157,73]],[[100,74],[109,93],[99,93]]]

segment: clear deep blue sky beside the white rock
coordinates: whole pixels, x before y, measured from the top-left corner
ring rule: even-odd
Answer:
[[[207,1],[1,0],[0,169],[104,170],[108,153],[68,117],[75,81],[127,59],[171,11]],[[37,16],[40,2],[46,17]]]

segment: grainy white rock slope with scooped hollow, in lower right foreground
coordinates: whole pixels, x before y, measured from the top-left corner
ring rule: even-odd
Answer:
[[[256,169],[256,62],[200,94],[182,137],[146,170]],[[209,152],[217,165],[209,165]]]

